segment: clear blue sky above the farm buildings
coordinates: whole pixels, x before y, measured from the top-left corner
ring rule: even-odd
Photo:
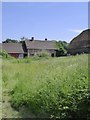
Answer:
[[[88,28],[88,2],[3,2],[2,40],[64,40]]]

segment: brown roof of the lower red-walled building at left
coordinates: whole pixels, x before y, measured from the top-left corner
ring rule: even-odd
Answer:
[[[2,49],[7,53],[24,53],[21,43],[2,43]]]

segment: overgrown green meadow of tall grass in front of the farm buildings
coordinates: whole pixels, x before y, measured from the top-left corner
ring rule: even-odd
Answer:
[[[3,59],[2,71],[4,117],[86,118],[88,55]]]

